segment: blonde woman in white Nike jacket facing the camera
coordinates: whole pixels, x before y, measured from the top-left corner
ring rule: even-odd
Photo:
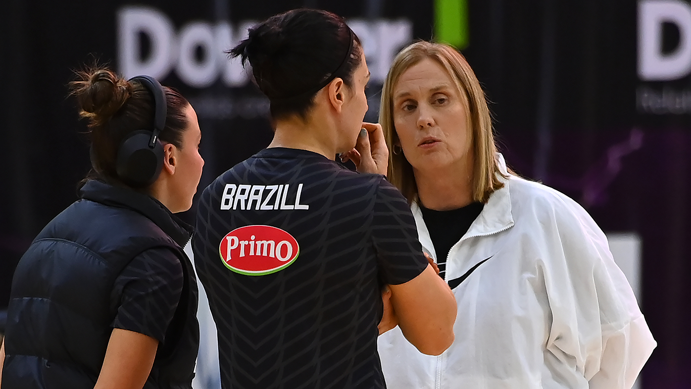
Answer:
[[[379,337],[391,388],[630,388],[656,343],[607,239],[578,203],[515,176],[484,93],[451,46],[395,58],[379,122],[388,179],[457,301],[439,356]]]

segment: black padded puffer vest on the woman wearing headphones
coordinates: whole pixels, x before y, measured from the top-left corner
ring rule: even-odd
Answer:
[[[119,305],[115,279],[133,257],[161,246],[178,253],[184,287],[144,388],[191,388],[198,291],[181,248],[191,230],[149,196],[88,181],[82,199],[48,223],[17,265],[2,389],[93,388]]]

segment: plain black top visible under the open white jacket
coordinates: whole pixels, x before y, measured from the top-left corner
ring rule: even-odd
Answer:
[[[434,251],[437,254],[435,262],[439,266],[439,277],[446,280],[446,259],[451,247],[456,244],[471,228],[473,221],[482,212],[483,203],[470,203],[462,208],[453,210],[431,210],[419,204],[422,219],[430,233]]]

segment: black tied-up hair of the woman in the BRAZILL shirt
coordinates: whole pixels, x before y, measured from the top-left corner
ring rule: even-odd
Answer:
[[[254,82],[269,98],[274,119],[304,118],[316,93],[334,78],[352,87],[362,58],[360,39],[343,18],[307,8],[269,17],[227,53],[252,65]]]

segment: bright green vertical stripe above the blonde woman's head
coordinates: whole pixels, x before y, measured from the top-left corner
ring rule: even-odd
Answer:
[[[459,49],[470,43],[468,34],[468,0],[435,0],[435,35]]]

